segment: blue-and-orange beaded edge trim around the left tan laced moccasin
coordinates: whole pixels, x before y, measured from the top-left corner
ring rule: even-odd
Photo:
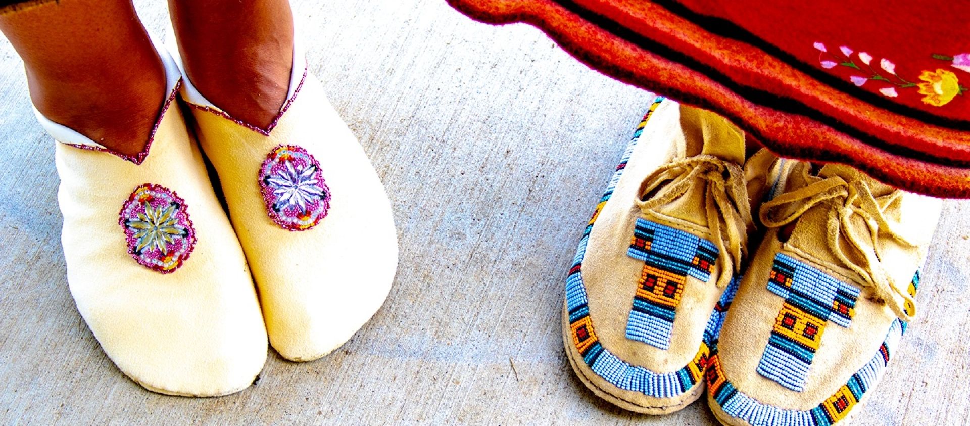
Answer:
[[[603,206],[605,206],[606,202],[613,195],[613,190],[616,188],[617,183],[623,175],[623,171],[627,167],[627,162],[630,160],[633,147],[636,146],[647,120],[657,110],[657,107],[663,99],[662,96],[657,97],[650,106],[650,110],[644,115],[639,125],[637,125],[636,131],[633,133],[633,138],[624,152],[623,159],[613,173],[606,187],[606,191],[602,198],[600,198],[596,211],[593,213],[593,217],[586,226],[586,230],[580,239],[579,247],[576,250],[576,255],[573,258],[572,267],[569,269],[569,274],[566,277],[566,310],[569,328],[572,343],[580,355],[582,355],[583,362],[598,377],[602,377],[613,385],[621,389],[641,392],[644,395],[654,398],[677,397],[694,388],[695,384],[702,379],[704,371],[709,364],[710,345],[716,341],[717,335],[720,333],[721,325],[724,324],[724,319],[727,316],[727,308],[740,282],[740,277],[731,280],[721,300],[711,313],[711,317],[704,329],[703,340],[694,360],[676,372],[659,374],[643,367],[632,366],[605,349],[598,342],[593,328],[593,321],[590,318],[586,288],[583,285],[581,272],[582,261],[586,254],[586,246],[589,243],[593,225],[599,213],[602,211]]]

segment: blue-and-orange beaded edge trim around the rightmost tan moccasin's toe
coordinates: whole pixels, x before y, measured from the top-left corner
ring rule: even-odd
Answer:
[[[915,296],[920,286],[920,271],[916,272],[909,285],[910,295]],[[896,345],[906,333],[907,322],[894,319],[883,344],[873,355],[872,360],[862,366],[834,394],[812,410],[785,410],[760,401],[738,390],[727,380],[721,367],[717,342],[711,348],[711,359],[707,374],[707,391],[717,405],[727,415],[740,419],[752,426],[831,426],[848,417],[862,400],[866,391],[873,388],[886,374],[889,361],[895,354]]]

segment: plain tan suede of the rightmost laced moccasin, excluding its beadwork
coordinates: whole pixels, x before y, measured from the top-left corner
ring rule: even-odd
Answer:
[[[849,183],[864,182],[868,185],[889,224],[914,245],[901,244],[883,232],[877,240],[882,260],[879,267],[887,270],[890,281],[895,285],[906,286],[925,257],[940,214],[940,200],[894,192],[892,188],[845,166],[825,166],[818,176],[813,176],[807,163],[798,163],[778,193],[835,177]],[[783,410],[812,410],[819,407],[879,353],[890,327],[897,320],[896,312],[875,294],[875,288],[840,260],[832,248],[828,237],[831,232],[828,213],[830,209],[840,208],[842,200],[844,198],[835,198],[801,213],[794,222],[791,236],[784,243],[779,240],[778,228],[770,230],[752,259],[727,314],[718,344],[724,378],[739,392],[762,404]],[[770,213],[784,216],[792,213],[797,206],[782,206],[780,209],[786,208],[789,212]],[[765,213],[762,208],[762,215]],[[848,223],[846,226],[868,229],[866,221],[859,214],[849,217]],[[838,241],[842,254],[853,262],[862,263],[858,250],[848,248],[851,243],[846,240],[846,231],[843,229],[841,232]],[[868,235],[869,231],[865,232]],[[871,249],[871,246],[862,246]],[[814,353],[801,391],[792,390],[757,372],[762,353],[785,302],[766,286],[777,253],[789,255],[831,279],[845,282],[860,291],[851,324],[841,327],[829,323],[824,328],[820,346]],[[712,402],[712,405],[716,403]],[[780,419],[778,421],[772,424],[784,424]],[[735,419],[731,424],[747,423]]]

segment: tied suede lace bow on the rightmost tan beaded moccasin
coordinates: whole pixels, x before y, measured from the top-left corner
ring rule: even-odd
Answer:
[[[828,205],[826,237],[832,252],[862,278],[862,285],[872,287],[876,297],[887,302],[896,316],[908,321],[916,314],[913,298],[892,282],[883,266],[878,244],[879,237],[886,235],[902,246],[914,246],[886,219],[886,209],[901,195],[902,192],[895,190],[877,198],[862,180],[847,182],[840,177],[830,177],[765,202],[761,205],[760,218],[765,226],[778,228],[792,223],[815,206]],[[783,214],[785,211],[791,213]],[[853,220],[856,216],[864,225]],[[846,255],[843,236],[861,263]]]

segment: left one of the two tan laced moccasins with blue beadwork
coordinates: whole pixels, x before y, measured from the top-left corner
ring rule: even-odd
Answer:
[[[566,279],[566,354],[599,397],[663,414],[701,395],[749,198],[779,173],[766,151],[743,165],[744,135],[718,115],[659,99],[640,123]]]

